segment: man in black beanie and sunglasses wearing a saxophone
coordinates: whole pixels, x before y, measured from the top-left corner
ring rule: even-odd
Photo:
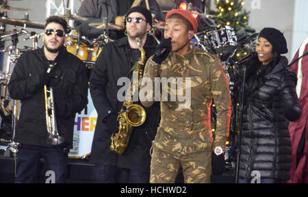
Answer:
[[[94,174],[99,183],[149,183],[149,152],[159,122],[159,103],[156,103],[146,109],[145,122],[132,128],[124,153],[118,155],[110,150],[111,137],[119,130],[118,121],[125,119],[118,117],[118,112],[126,111],[125,108],[128,109],[131,104],[123,104],[123,100],[118,98],[129,97],[118,95],[120,89],[123,89],[121,79],[130,81],[133,66],[136,62],[145,63],[153,55],[157,45],[155,39],[146,34],[152,25],[149,10],[142,6],[131,8],[125,15],[125,23],[127,36],[104,46],[90,77],[90,93],[98,114],[91,161],[96,165]],[[145,57],[140,57],[140,48],[136,41],[138,39]],[[135,109],[140,111],[139,107],[133,107]],[[123,179],[118,179],[119,177]]]

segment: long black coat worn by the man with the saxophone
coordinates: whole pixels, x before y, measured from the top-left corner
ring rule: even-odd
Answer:
[[[148,36],[144,44],[146,59],[153,55],[156,45],[155,40]],[[98,119],[92,143],[91,160],[96,164],[148,171],[151,160],[149,153],[151,142],[155,138],[159,123],[159,102],[153,107],[144,107],[146,121],[140,127],[133,129],[129,146],[123,155],[118,156],[110,150],[110,137],[113,132],[118,132],[116,116],[123,106],[117,97],[118,90],[123,88],[123,84],[117,86],[117,82],[120,77],[127,77],[133,66],[129,48],[127,37],[106,44],[92,70],[90,93]],[[109,116],[108,111],[112,111]]]

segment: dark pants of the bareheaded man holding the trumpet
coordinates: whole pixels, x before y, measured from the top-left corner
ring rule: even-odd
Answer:
[[[15,183],[33,183],[36,180],[40,158],[47,164],[45,183],[63,183],[68,166],[68,153],[60,148],[23,144],[18,149]]]

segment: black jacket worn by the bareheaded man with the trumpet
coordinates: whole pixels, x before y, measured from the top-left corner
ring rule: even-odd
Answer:
[[[75,114],[88,103],[86,66],[64,47],[57,55],[49,84],[53,88],[57,129],[65,142],[61,147],[71,148]],[[44,80],[49,62],[44,47],[21,55],[9,83],[12,99],[21,100],[21,113],[16,127],[15,141],[21,144],[49,146],[44,103]]]

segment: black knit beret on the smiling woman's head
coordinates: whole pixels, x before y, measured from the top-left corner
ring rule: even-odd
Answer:
[[[260,37],[266,38],[272,44],[274,51],[277,51],[279,54],[287,53],[287,40],[285,40],[285,36],[278,29],[264,28],[259,33]]]

